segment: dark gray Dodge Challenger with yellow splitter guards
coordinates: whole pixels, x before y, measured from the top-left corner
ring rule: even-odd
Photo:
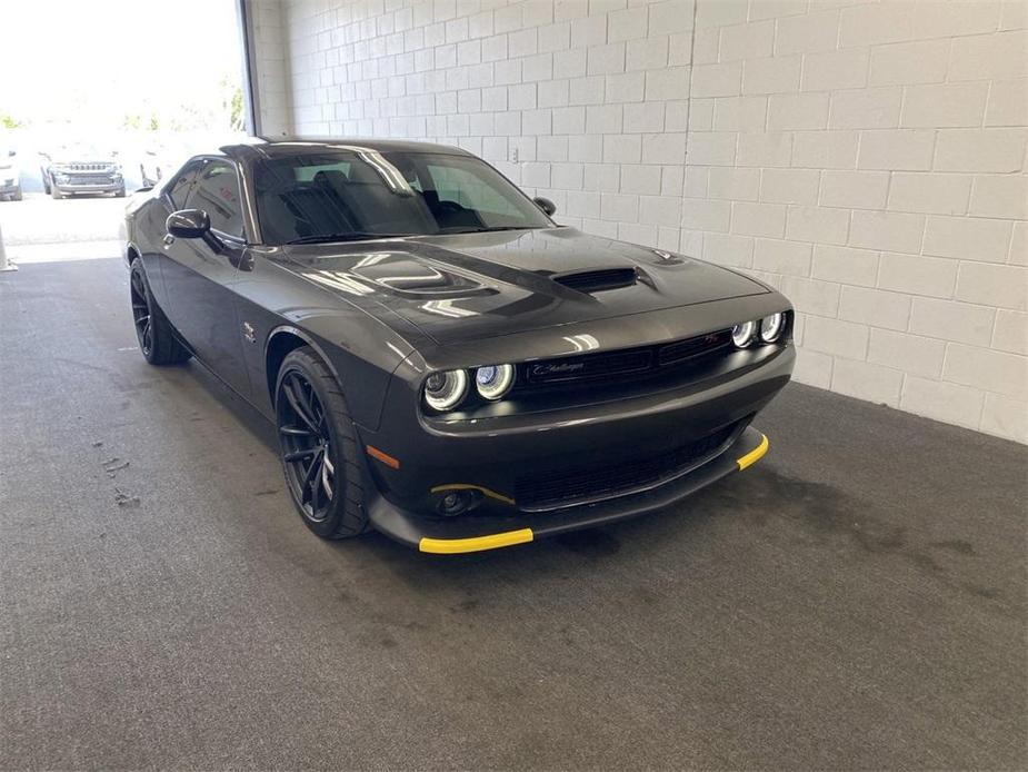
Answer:
[[[132,317],[278,427],[319,536],[489,550],[667,507],[758,461],[792,310],[681,255],[558,226],[450,147],[265,141],[128,208]]]

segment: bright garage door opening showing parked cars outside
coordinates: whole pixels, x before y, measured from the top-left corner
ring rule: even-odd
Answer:
[[[124,206],[243,136],[236,0],[11,3],[0,231],[14,264],[117,257]]]

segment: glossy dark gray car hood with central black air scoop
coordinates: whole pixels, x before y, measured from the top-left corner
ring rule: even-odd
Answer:
[[[440,345],[768,291],[718,266],[568,227],[296,245],[285,256],[295,273],[373,299]]]

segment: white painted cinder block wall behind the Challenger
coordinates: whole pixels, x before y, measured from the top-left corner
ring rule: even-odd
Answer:
[[[252,1],[266,132],[465,147],[780,287],[797,379],[1028,442],[1028,2]]]

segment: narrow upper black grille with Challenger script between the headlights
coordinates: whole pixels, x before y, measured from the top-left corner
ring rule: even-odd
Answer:
[[[695,362],[730,344],[731,330],[722,329],[657,346],[529,362],[521,365],[518,383],[527,388],[589,382],[616,385],[628,377]]]

